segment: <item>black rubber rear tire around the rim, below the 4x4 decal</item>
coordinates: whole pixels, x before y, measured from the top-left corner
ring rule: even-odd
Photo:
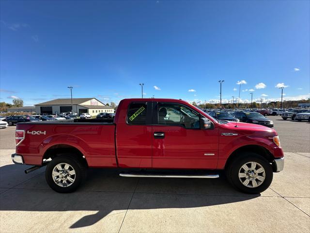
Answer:
[[[52,172],[55,166],[66,163],[70,165],[75,171],[75,180],[67,187],[59,186],[54,182]],[[45,172],[45,179],[48,185],[59,193],[71,193],[77,190],[79,185],[86,179],[87,167],[82,163],[79,158],[74,157],[74,155],[66,154],[58,156],[47,164],[47,169]],[[61,183],[61,182],[60,182]]]

